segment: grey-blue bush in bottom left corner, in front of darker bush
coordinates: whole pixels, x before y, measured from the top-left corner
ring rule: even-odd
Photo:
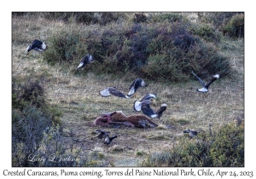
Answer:
[[[27,161],[29,155],[34,154],[40,147],[43,131],[51,125],[51,119],[49,115],[33,106],[26,106],[22,112],[13,110],[12,115],[13,163],[19,160],[19,147],[23,148],[24,161]]]

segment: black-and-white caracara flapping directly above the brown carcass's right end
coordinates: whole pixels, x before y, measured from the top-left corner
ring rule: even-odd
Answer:
[[[163,103],[161,105],[160,109],[157,110],[157,112],[154,112],[154,110],[150,107],[150,103],[151,103],[150,100],[139,101],[139,102],[137,102],[137,107],[135,107],[136,102],[134,103],[133,108],[137,112],[143,111],[143,113],[150,118],[159,118],[160,119],[160,117],[162,116],[162,113],[164,111],[166,111],[166,107],[167,107],[166,103]]]

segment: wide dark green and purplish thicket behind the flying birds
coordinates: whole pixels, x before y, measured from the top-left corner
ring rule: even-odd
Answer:
[[[52,49],[45,51],[44,59],[79,63],[83,55],[90,53],[96,63],[85,67],[86,72],[132,72],[152,80],[182,81],[189,78],[192,70],[209,75],[221,72],[222,77],[229,74],[227,58],[207,42],[219,40],[220,34],[212,26],[194,26],[180,14],[156,15],[166,20],[173,17],[173,21],[113,23],[87,26],[86,31],[56,32],[49,39]]]

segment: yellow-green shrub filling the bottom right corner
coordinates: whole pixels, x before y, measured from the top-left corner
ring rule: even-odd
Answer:
[[[243,125],[225,124],[218,130],[182,138],[172,149],[152,153],[141,166],[243,167]]]

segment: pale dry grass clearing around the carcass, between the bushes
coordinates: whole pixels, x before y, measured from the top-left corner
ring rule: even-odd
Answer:
[[[126,115],[135,114],[133,101],[140,99],[146,93],[156,93],[158,97],[153,102],[157,109],[166,101],[167,109],[162,120],[156,122],[160,127],[154,130],[143,129],[108,129],[111,134],[119,135],[110,146],[103,141],[90,142],[90,149],[101,151],[102,159],[113,159],[115,166],[136,166],[145,155],[155,151],[165,150],[173,146],[178,137],[183,137],[183,130],[208,130],[209,125],[219,127],[229,124],[237,117],[244,116],[244,51],[243,41],[225,41],[220,48],[229,55],[234,75],[220,78],[214,82],[207,96],[197,93],[200,87],[196,80],[182,84],[160,84],[148,82],[148,87],[139,89],[136,97],[122,99],[115,96],[103,98],[99,91],[109,86],[128,92],[128,86],[136,78],[113,78],[110,76],[87,76],[74,74],[73,66],[49,66],[42,55],[32,52],[26,56],[24,51],[32,39],[47,41],[56,28],[65,28],[61,22],[44,19],[34,20],[29,17],[13,19],[13,76],[26,76],[28,72],[34,75],[44,75],[45,89],[50,104],[60,107],[66,124],[64,129],[73,129],[77,135],[96,136],[93,131],[100,128],[92,123],[102,113],[122,111]],[[68,25],[72,26],[72,25]],[[79,59],[78,59],[79,63]],[[126,79],[124,81],[124,79]],[[147,81],[146,81],[147,83]],[[166,125],[171,127],[166,128]]]

